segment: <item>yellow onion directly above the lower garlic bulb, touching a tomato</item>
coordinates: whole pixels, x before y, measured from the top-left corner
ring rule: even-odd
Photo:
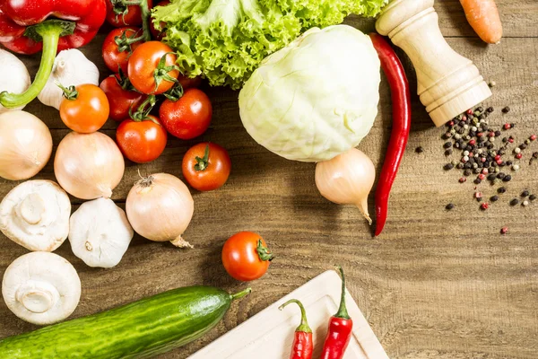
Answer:
[[[60,186],[81,199],[111,197],[125,168],[117,144],[100,132],[71,132],[58,145],[54,159],[54,173]]]

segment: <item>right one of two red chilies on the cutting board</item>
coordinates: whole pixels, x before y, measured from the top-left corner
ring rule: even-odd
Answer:
[[[351,339],[353,320],[351,320],[345,306],[345,277],[343,276],[342,267],[338,267],[338,270],[342,276],[340,308],[329,321],[329,328],[321,352],[321,359],[342,359],[345,349],[347,349]]]

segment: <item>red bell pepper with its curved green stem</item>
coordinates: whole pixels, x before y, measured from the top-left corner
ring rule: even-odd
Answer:
[[[0,103],[14,108],[35,99],[47,83],[56,52],[90,42],[106,13],[105,0],[0,1],[0,44],[19,54],[43,50],[38,74],[30,88],[21,94],[2,92]]]

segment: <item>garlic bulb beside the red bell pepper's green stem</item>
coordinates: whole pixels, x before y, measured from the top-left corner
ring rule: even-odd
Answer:
[[[80,50],[63,50],[56,56],[52,74],[38,95],[39,101],[44,105],[60,109],[64,92],[56,83],[61,83],[65,88],[83,83],[99,86],[99,70]]]

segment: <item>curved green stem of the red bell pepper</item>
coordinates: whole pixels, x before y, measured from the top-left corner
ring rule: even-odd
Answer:
[[[36,74],[34,82],[28,90],[22,93],[2,92],[0,93],[0,103],[7,109],[13,109],[24,106],[38,97],[39,92],[43,90],[47,83],[48,77],[52,73],[52,66],[56,57],[58,48],[58,39],[65,32],[65,27],[58,22],[41,22],[34,29],[43,39],[43,53],[41,63]]]

